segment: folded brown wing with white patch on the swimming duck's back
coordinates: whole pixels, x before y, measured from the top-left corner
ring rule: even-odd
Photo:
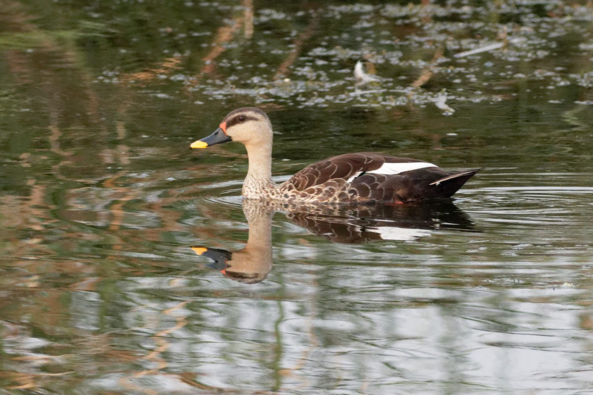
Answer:
[[[375,152],[347,153],[313,163],[286,181],[284,187],[304,191],[328,181],[352,182],[369,172],[398,174],[402,171],[432,167],[431,163],[410,158],[396,158]],[[435,181],[435,180],[432,180]]]

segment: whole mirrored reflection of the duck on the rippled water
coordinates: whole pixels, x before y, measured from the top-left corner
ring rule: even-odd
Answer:
[[[272,269],[272,216],[285,211],[294,223],[336,243],[368,243],[378,240],[416,240],[435,229],[473,230],[473,222],[451,200],[397,205],[274,205],[243,201],[249,226],[247,244],[239,251],[204,246],[192,247],[212,260],[208,267],[232,280],[254,284]]]

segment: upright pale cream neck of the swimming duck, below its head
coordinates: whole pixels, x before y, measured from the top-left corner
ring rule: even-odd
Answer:
[[[272,197],[277,191],[272,181],[272,146],[271,144],[246,144],[249,169],[243,182],[243,197],[261,199]]]

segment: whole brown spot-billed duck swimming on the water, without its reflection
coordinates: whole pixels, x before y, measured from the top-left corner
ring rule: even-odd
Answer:
[[[419,159],[356,152],[313,163],[282,184],[272,180],[272,122],[264,111],[244,107],[227,114],[212,134],[192,149],[243,143],[248,169],[242,195],[247,200],[298,204],[412,203],[450,198],[483,168],[448,171]]]

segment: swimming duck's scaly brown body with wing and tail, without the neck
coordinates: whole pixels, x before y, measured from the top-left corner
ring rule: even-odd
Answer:
[[[452,172],[432,163],[376,152],[334,156],[299,171],[282,198],[317,202],[407,202],[451,197],[480,169]]]

